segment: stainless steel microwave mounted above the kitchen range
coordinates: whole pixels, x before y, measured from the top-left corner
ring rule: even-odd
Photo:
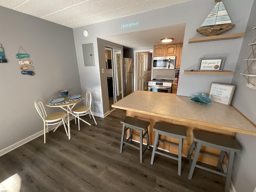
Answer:
[[[174,69],[176,56],[153,57],[153,69]]]

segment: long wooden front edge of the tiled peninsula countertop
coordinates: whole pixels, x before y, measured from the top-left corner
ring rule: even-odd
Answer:
[[[256,136],[256,131],[254,132],[254,131],[251,131],[251,130],[244,130],[244,129],[233,128],[233,127],[229,127],[229,126],[223,126],[223,125],[218,125],[218,124],[213,124],[213,123],[208,123],[208,122],[202,122],[202,121],[198,121],[198,120],[180,118],[180,117],[171,116],[171,115],[164,115],[164,114],[159,114],[159,113],[156,113],[156,112],[148,112],[148,111],[144,111],[144,110],[132,109],[132,108],[129,108],[129,107],[117,106],[115,104],[112,104],[112,107],[122,109],[122,110],[132,111],[132,112],[138,112],[138,113],[142,113],[142,114],[148,114],[148,115],[152,115],[152,116],[169,118],[169,119],[173,119],[173,120],[177,120],[177,121],[181,121],[181,122],[187,122],[187,123],[191,123],[191,124],[198,124],[198,125],[202,125],[202,126],[208,126],[208,127],[212,127],[212,128],[216,128],[216,129],[220,129],[220,130],[227,130],[227,131],[231,131],[231,132],[249,134],[249,135]]]

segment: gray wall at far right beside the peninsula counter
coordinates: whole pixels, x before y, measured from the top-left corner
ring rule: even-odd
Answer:
[[[242,48],[238,56],[235,74],[232,84],[236,85],[236,91],[232,101],[232,105],[256,124],[256,90],[246,87],[246,79],[240,75],[246,70],[246,61],[252,53],[251,46],[256,39],[256,2],[252,6],[252,12],[246,28],[246,34],[242,43]],[[255,48],[255,46],[254,46]],[[256,187],[256,166],[255,166],[255,136],[245,134],[236,134],[236,138],[241,142],[244,150],[241,154],[236,154],[234,162],[233,183],[236,192],[252,192]]]

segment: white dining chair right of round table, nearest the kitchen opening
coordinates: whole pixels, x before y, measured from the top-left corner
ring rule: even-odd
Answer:
[[[92,94],[90,91],[88,91],[86,92],[86,106],[78,106],[73,109],[73,113],[76,114],[77,115],[76,118],[78,118],[78,130],[80,130],[80,120],[79,120],[80,116],[89,115],[90,119],[92,116],[95,124],[97,124],[91,111],[91,104],[92,104]]]

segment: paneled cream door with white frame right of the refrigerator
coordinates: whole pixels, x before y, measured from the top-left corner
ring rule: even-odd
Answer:
[[[148,81],[151,80],[153,49],[136,50],[134,58],[136,58],[136,83],[134,90],[148,90]]]

